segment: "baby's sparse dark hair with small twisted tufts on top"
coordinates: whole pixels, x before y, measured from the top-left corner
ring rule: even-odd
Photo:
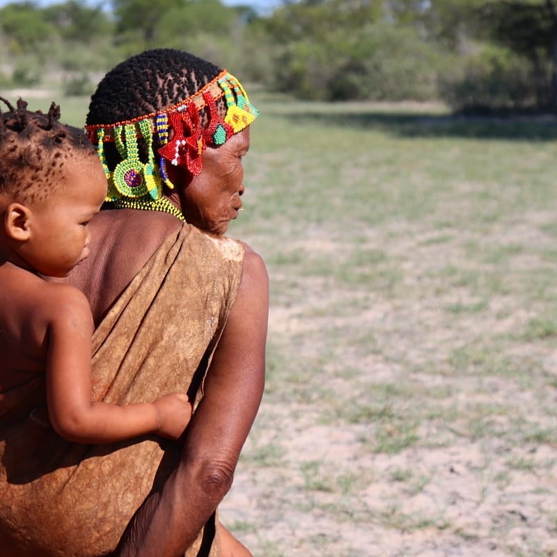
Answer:
[[[0,195],[41,201],[61,182],[69,157],[96,156],[83,130],[59,122],[58,104],[52,102],[45,114],[27,110],[21,98],[16,107],[3,97],[0,101],[8,107],[0,106]]]

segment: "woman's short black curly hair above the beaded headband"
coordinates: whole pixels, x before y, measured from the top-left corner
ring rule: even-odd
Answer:
[[[167,109],[194,95],[220,72],[222,68],[189,52],[146,50],[104,76],[91,97],[86,125],[114,124]],[[217,109],[224,116],[223,99]]]

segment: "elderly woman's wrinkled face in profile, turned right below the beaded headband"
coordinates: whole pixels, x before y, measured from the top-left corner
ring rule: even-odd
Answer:
[[[188,223],[213,234],[226,233],[230,221],[237,218],[242,207],[242,157],[248,150],[249,127],[246,127],[224,145],[218,148],[207,147],[203,151],[203,171],[193,176],[180,192],[182,213]],[[171,166],[167,164],[166,168],[170,170]],[[173,178],[171,176],[171,180]],[[178,181],[174,180],[175,185],[184,183],[180,178]]]

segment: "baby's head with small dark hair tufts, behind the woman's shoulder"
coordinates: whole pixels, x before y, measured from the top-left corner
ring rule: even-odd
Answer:
[[[65,276],[88,254],[91,221],[107,192],[95,148],[83,130],[0,97],[0,248],[3,258]]]

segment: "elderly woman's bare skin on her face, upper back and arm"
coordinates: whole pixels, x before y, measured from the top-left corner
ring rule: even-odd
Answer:
[[[205,149],[201,175],[191,177],[167,165],[175,184],[171,201],[199,228],[223,234],[237,217],[244,192],[242,157],[248,149],[249,128],[218,149]],[[180,226],[162,212],[114,210],[95,217],[91,256],[67,279],[91,302],[95,323]],[[265,382],[269,282],[262,258],[245,247],[240,289],[207,372],[205,397],[187,427],[180,464],[162,491],[142,505],[120,544],[120,556],[183,555],[230,489]],[[251,556],[223,526],[217,527],[222,528],[223,557]]]

